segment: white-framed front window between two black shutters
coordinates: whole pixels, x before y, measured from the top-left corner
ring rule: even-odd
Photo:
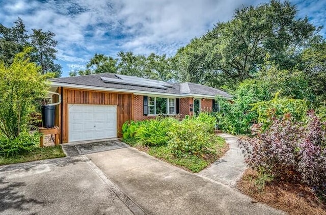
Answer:
[[[175,114],[175,98],[148,97],[149,115]]]

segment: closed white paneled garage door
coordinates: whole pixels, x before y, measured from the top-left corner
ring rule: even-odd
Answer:
[[[117,106],[69,104],[69,142],[117,137]]]

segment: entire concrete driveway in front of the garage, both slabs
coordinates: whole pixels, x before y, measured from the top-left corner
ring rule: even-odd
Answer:
[[[1,166],[0,214],[284,214],[123,143],[65,151],[71,157]]]

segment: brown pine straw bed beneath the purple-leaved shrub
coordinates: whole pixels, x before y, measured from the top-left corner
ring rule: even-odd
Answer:
[[[289,214],[326,214],[326,205],[320,202],[308,186],[289,182],[273,182],[246,170],[238,181],[238,189],[255,199]],[[262,185],[263,181],[263,185]]]

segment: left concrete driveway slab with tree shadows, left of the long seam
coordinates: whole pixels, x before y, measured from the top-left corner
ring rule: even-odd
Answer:
[[[132,214],[116,193],[83,156],[0,167],[0,214]]]

